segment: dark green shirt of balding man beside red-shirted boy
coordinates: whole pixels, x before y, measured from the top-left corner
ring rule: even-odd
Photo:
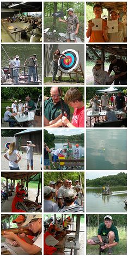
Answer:
[[[68,104],[62,100],[64,111],[67,114],[67,118],[70,120],[70,108]],[[44,115],[48,119],[48,121],[52,121],[58,117],[62,113],[62,107],[60,101],[54,105],[52,97],[44,102]]]

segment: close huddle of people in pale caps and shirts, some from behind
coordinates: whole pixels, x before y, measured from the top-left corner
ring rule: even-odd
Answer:
[[[44,187],[44,212],[84,212],[82,198],[79,180],[52,180]]]

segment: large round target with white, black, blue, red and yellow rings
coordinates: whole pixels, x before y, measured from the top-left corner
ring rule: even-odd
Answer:
[[[60,69],[60,71],[64,73],[70,73],[74,71],[74,69],[77,68],[79,63],[78,52],[72,49],[68,49],[63,51],[62,53],[64,53],[68,57],[68,59],[59,59],[58,68]]]

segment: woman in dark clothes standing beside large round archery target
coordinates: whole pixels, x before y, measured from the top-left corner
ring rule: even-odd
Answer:
[[[58,60],[59,58],[62,59],[64,57],[68,59],[68,57],[66,57],[64,53],[60,53],[59,49],[57,49],[53,54],[53,62],[52,62],[52,68],[53,68],[52,82],[53,83],[56,83],[56,75],[58,72]]]

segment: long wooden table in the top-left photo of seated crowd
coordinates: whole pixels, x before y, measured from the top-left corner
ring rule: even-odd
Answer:
[[[5,21],[2,20],[2,25],[3,27],[5,27],[7,29],[8,32],[10,32],[10,34],[15,34],[15,42],[20,41],[21,40],[21,32],[25,31],[25,29],[19,27],[16,25],[16,27],[14,26],[15,23],[11,23],[9,21]],[[19,40],[16,40],[16,35],[19,35]]]

